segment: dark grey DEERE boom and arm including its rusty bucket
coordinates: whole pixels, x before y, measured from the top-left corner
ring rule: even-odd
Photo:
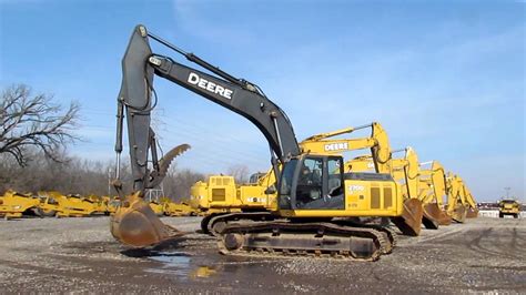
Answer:
[[[172,58],[152,52],[154,40],[182,54],[210,73],[181,64]],[[151,112],[156,105],[154,77],[162,77],[251,121],[263,133],[271,148],[275,175],[279,165],[300,154],[300,146],[289,118],[265,96],[255,84],[222,71],[193,53],[184,52],[173,44],[136,26],[122,59],[122,83],[118,98],[117,121],[117,175],[119,181],[120,155],[124,116],[128,125],[129,152],[134,194],[127,197],[111,222],[111,233],[120,242],[131,246],[149,246],[182,235],[174,227],[163,224],[142,200],[144,190],[160,184],[170,162],[188,150],[186,144],[176,146],[161,160],[158,143],[151,128]],[[151,155],[151,159],[149,159]],[[280,162],[280,163],[279,163]],[[151,163],[151,164],[150,164]],[[279,177],[277,177],[279,179]]]

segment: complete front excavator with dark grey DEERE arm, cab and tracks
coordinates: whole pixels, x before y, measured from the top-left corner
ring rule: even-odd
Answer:
[[[164,44],[213,74],[152,53],[150,40]],[[350,185],[352,181],[366,181],[380,194],[377,200],[391,200],[390,210],[402,214],[402,203],[393,203],[392,195],[399,187],[391,175],[350,174],[344,172],[342,156],[302,153],[286,114],[257,85],[184,52],[149,33],[143,26],[133,30],[122,60],[122,71],[115,144],[118,169],[113,184],[122,194],[119,166],[125,113],[135,193],[127,196],[112,217],[111,233],[118,241],[143,247],[183,235],[163,224],[143,201],[144,190],[159,185],[170,162],[189,148],[180,145],[158,159],[150,115],[155,105],[152,100],[152,93],[155,93],[153,78],[159,75],[244,116],[263,133],[271,148],[271,162],[279,180],[277,210],[237,213],[239,221],[225,223],[219,232],[221,253],[374,261],[381,254],[391,252],[391,231],[376,225],[355,224],[346,218],[355,215],[355,199],[371,197],[365,186]]]

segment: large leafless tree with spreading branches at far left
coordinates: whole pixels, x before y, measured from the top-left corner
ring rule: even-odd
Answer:
[[[73,134],[79,105],[71,103],[63,111],[52,103],[52,95],[32,96],[24,84],[3,90],[0,102],[0,154],[9,154],[21,166],[29,160],[29,148],[42,151],[55,162],[63,161],[68,143],[79,140]]]

